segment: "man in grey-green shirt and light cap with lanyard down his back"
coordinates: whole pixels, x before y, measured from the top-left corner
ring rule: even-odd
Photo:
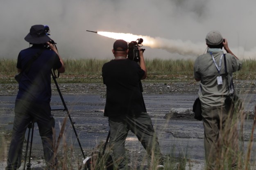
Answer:
[[[231,125],[233,110],[225,107],[224,101],[225,96],[234,91],[232,73],[240,70],[242,64],[229,49],[227,39],[222,38],[219,31],[210,31],[205,40],[208,50],[195,60],[194,77],[196,81],[201,82],[198,96],[202,107],[207,170],[219,169],[215,164],[216,160],[221,159],[219,151],[227,148],[227,143],[223,142],[227,140],[227,136],[231,137],[228,147],[234,156],[231,163],[234,168],[238,133],[236,126]],[[223,47],[227,54],[222,51]],[[223,136],[223,132],[229,133]]]

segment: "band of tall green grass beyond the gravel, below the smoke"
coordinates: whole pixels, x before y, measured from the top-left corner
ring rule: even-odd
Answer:
[[[102,83],[101,69],[107,59],[66,59],[66,72],[61,74],[59,83]],[[16,59],[0,59],[0,83],[15,83]],[[146,59],[147,81],[194,81],[194,60]],[[234,79],[256,79],[256,60],[242,60],[243,66],[233,74]]]

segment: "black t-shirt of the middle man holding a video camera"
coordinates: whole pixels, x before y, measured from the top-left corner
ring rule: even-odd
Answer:
[[[106,85],[104,116],[146,112],[140,89],[144,74],[138,63],[129,59],[111,60],[103,65],[102,77]]]

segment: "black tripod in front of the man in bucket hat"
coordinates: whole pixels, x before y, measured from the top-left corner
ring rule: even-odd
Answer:
[[[81,145],[81,143],[80,143],[80,141],[79,141],[79,138],[78,138],[78,135],[77,135],[77,131],[75,130],[75,126],[74,126],[75,122],[73,122],[72,119],[71,119],[71,116],[70,116],[70,114],[69,114],[68,108],[67,108],[67,106],[66,106],[66,103],[65,103],[65,101],[64,101],[64,98],[63,98],[63,96],[62,96],[62,94],[61,94],[61,91],[60,91],[60,89],[59,89],[59,85],[58,85],[58,83],[57,83],[57,81],[56,81],[56,78],[59,77],[59,72],[58,72],[58,76],[56,76],[56,74],[55,74],[55,72],[54,72],[53,70],[52,70],[52,73],[51,73],[51,74],[52,74],[52,79],[53,79],[53,81],[54,81],[54,83],[55,83],[55,85],[56,85],[56,87],[57,87],[57,90],[58,90],[58,92],[59,92],[59,96],[60,96],[61,101],[62,101],[63,106],[64,106],[64,109],[52,109],[52,111],[53,111],[53,110],[62,110],[62,111],[65,111],[65,110],[66,110],[66,112],[67,112],[67,114],[68,114],[68,117],[69,117],[69,120],[70,120],[70,123],[71,123],[71,125],[72,125],[72,128],[73,128],[73,130],[74,130],[74,132],[75,132],[75,136],[77,137],[77,142],[78,142],[78,144],[79,144],[79,147],[80,147],[80,149],[81,149],[81,151],[82,151],[82,154],[83,154],[83,157],[84,157],[84,159],[85,159],[84,150],[83,150],[82,145]],[[23,170],[25,170],[25,166],[26,166],[27,150],[28,150],[28,145],[29,145],[29,136],[30,136],[30,130],[32,129],[32,132],[31,132],[31,141],[30,141],[30,150],[29,150],[29,159],[28,159],[28,163],[27,163],[27,170],[31,170],[30,157],[31,157],[32,141],[33,141],[33,132],[34,132],[34,121],[32,121],[32,122],[29,123],[28,129],[29,129],[29,131],[28,131],[28,136],[27,136],[27,147],[26,147],[25,160],[24,160],[24,169],[23,169]]]

